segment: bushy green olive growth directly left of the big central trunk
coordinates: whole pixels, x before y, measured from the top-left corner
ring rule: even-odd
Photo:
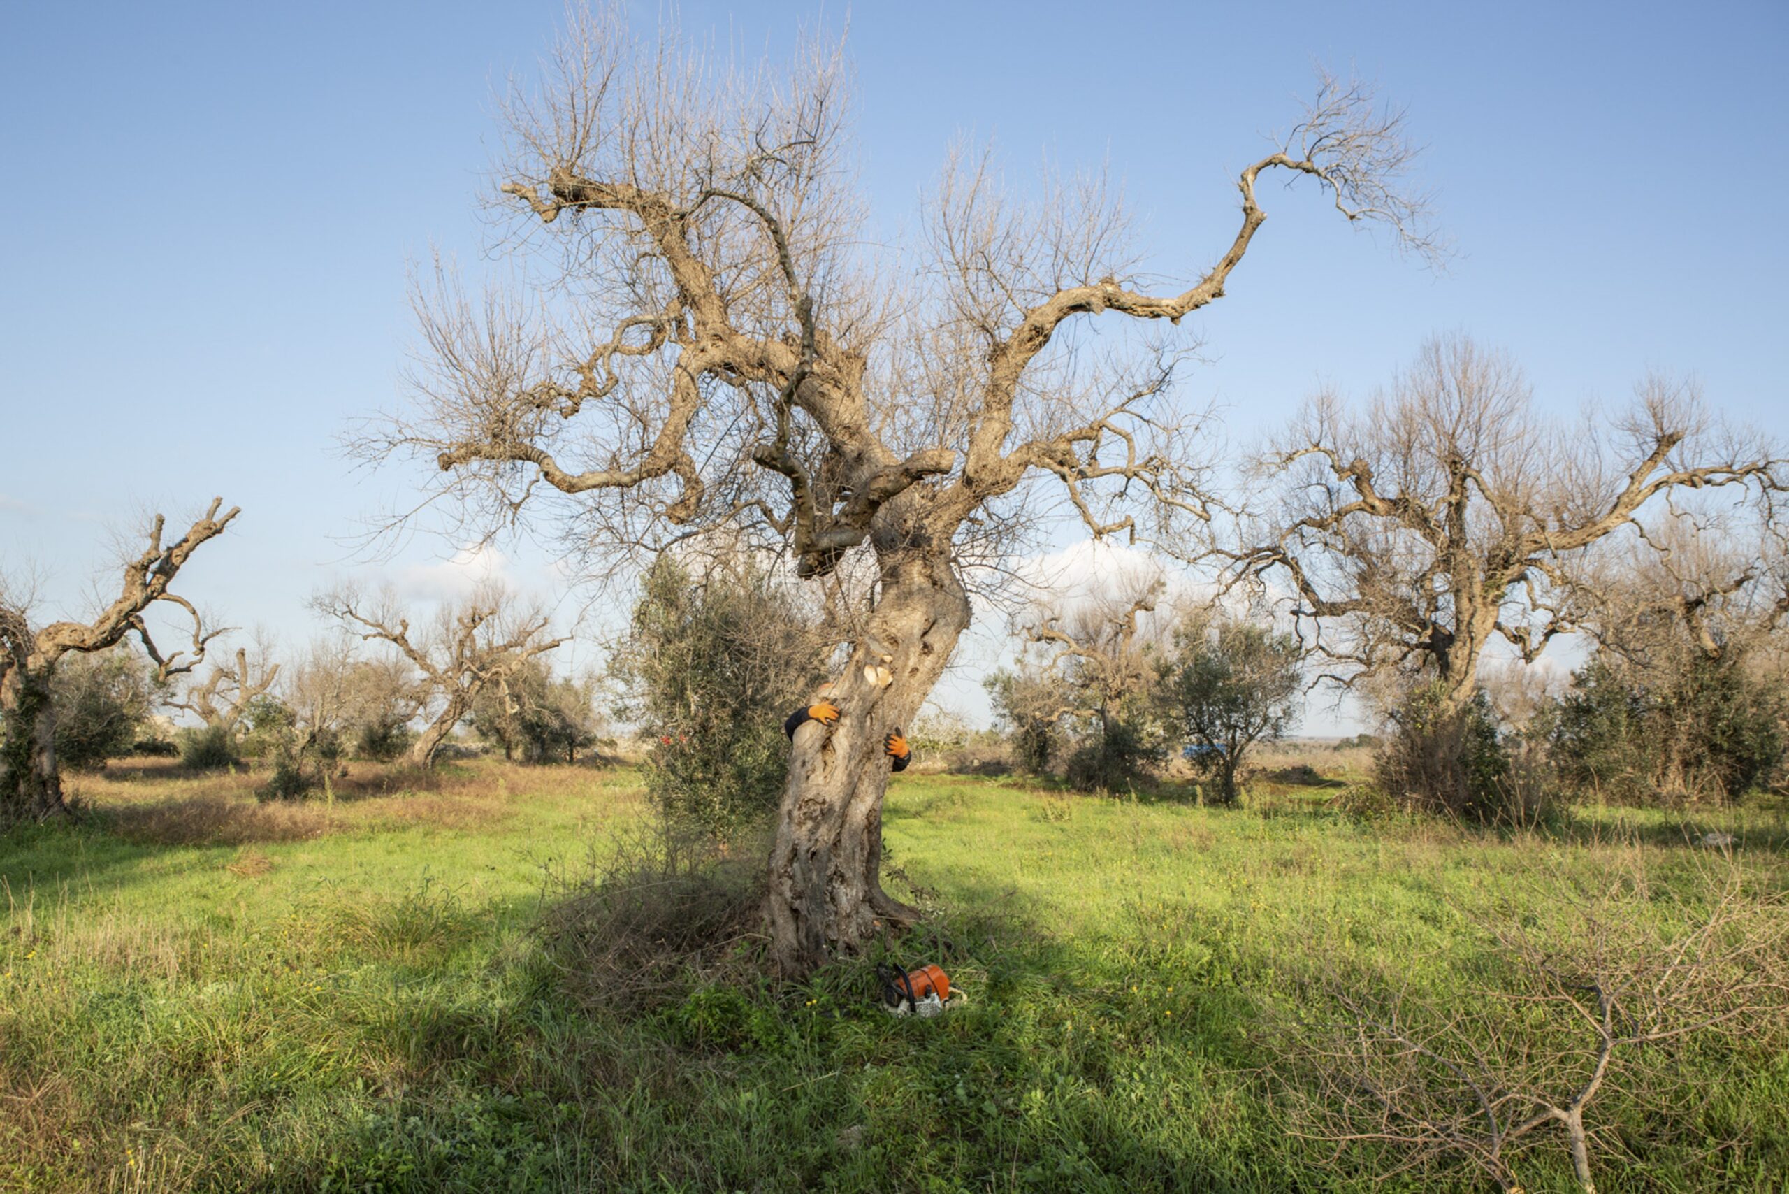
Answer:
[[[796,598],[746,560],[648,569],[610,661],[617,712],[651,743],[646,786],[669,822],[732,840],[782,795],[782,723],[825,680],[827,648]]]

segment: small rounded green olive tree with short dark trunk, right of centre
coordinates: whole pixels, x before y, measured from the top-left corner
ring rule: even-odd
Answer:
[[[1186,618],[1163,671],[1168,720],[1197,746],[1218,804],[1236,802],[1236,773],[1258,741],[1285,736],[1299,711],[1302,652],[1290,634],[1208,612]]]

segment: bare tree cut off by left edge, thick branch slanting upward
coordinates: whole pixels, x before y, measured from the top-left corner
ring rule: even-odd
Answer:
[[[93,653],[116,646],[134,634],[156,666],[157,682],[184,675],[206,657],[206,644],[218,634],[208,632],[199,610],[168,591],[175,573],[204,541],[220,535],[238,508],[222,516],[215,498],[204,517],[170,544],[161,542],[163,517],[148,530],[148,546],[125,560],[123,584],[91,621],[52,621],[32,628],[30,600],[23,593],[0,587],[0,720],[5,721],[5,754],[0,755],[0,825],[66,813],[63,779],[55,763],[55,709],[50,677],[59,659],[70,652]],[[143,621],[156,603],[177,605],[193,619],[191,653],[163,655]]]

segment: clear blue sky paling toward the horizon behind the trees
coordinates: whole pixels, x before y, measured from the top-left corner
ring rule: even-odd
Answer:
[[[338,575],[449,584],[454,544],[351,559],[340,537],[406,478],[351,474],[333,439],[401,397],[410,265],[435,245],[478,263],[492,97],[560,13],[5,5],[0,444],[29,448],[0,455],[0,564],[36,566],[73,610],[107,526],[222,494],[240,523],[182,591],[231,623],[299,641],[304,598]],[[635,5],[637,25],[658,13]],[[1231,235],[1231,179],[1313,61],[1408,106],[1458,256],[1428,272],[1313,192],[1267,190],[1267,227],[1197,320],[1213,360],[1184,383],[1224,406],[1231,455],[1315,385],[1365,394],[1444,329],[1510,349],[1547,410],[1619,403],[1657,367],[1789,430],[1789,5],[682,7],[687,32],[746,54],[816,20],[850,23],[889,238],[946,143],[991,136],[1014,181],[1109,163],[1149,267],[1184,277]],[[547,589],[546,564],[515,548],[508,569]],[[975,659],[946,695],[971,711]]]

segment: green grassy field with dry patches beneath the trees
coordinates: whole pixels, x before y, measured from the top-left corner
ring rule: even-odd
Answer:
[[[1324,979],[1469,1001],[1487,925],[1544,931],[1610,875],[1642,879],[1624,927],[1669,936],[1728,865],[1691,845],[1710,829],[1753,897],[1789,886],[1769,813],[1497,834],[1297,782],[1209,809],[902,777],[891,888],[934,922],[898,949],[964,1010],[882,1015],[869,959],[623,1010],[580,997],[540,920],[642,823],[633,773],[406,782],[261,806],[247,777],[114,764],[79,780],[81,825],[0,840],[0,1189],[1378,1189],[1395,1153],[1286,1130],[1277,1026]],[[1780,1038],[1669,1063],[1689,1103],[1614,1081],[1587,1115],[1619,1156],[1599,1189],[1789,1189]],[[1574,1189],[1558,1140],[1519,1176]]]

